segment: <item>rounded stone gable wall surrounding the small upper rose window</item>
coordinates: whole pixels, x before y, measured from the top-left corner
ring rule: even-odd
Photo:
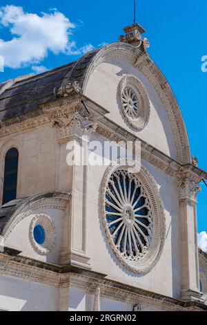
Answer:
[[[117,87],[126,74],[138,77],[150,97],[150,121],[140,132],[130,129],[119,112]],[[108,118],[179,163],[190,163],[188,136],[177,100],[148,56],[130,44],[110,44],[93,53],[82,78],[83,94],[108,109]]]

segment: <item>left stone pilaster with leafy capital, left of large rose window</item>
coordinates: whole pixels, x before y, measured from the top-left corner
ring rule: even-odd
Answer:
[[[72,200],[64,219],[60,263],[90,269],[86,256],[86,196],[88,139],[97,123],[77,110],[52,120],[57,130],[57,188],[70,190]]]

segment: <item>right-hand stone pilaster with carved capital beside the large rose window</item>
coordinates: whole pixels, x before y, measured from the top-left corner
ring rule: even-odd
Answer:
[[[178,174],[181,248],[181,299],[202,301],[199,291],[197,194],[199,184],[190,174]]]

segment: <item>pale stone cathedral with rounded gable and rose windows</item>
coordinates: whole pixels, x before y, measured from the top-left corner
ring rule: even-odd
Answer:
[[[0,84],[0,310],[207,310],[207,173],[144,32]]]

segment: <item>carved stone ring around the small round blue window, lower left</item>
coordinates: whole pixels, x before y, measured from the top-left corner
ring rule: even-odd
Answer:
[[[42,244],[37,243],[34,239],[34,228],[37,225],[41,225],[45,231],[46,240]],[[29,239],[34,252],[40,255],[48,255],[52,252],[56,242],[56,233],[55,225],[50,216],[47,214],[37,214],[32,218],[29,228]]]

